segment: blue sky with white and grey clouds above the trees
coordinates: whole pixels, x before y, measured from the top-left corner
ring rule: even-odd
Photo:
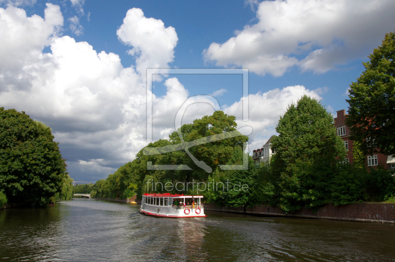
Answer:
[[[188,98],[210,95],[252,127],[251,153],[304,94],[333,115],[347,110],[394,10],[393,0],[0,0],[0,106],[48,125],[70,176],[95,182],[150,142],[147,69],[160,68],[148,90],[152,140],[175,131]],[[170,68],[248,70],[248,120],[241,74]],[[192,104],[182,124],[213,112]]]

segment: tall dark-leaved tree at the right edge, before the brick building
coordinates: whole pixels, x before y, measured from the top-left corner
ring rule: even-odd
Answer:
[[[395,33],[386,34],[368,57],[365,71],[350,85],[346,124],[364,152],[395,155]]]

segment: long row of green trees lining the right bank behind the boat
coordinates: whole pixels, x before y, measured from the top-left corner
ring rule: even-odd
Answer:
[[[145,192],[164,192],[160,187],[153,190],[147,185],[200,181],[205,187],[219,184],[219,190],[203,191],[197,186],[184,191],[173,188],[171,192],[194,195],[200,189],[206,201],[218,205],[268,204],[280,207],[285,213],[302,207],[316,209],[328,203],[342,205],[394,199],[394,172],[381,165],[367,169],[364,156],[375,152],[395,155],[395,34],[387,34],[383,44],[374,49],[369,58],[369,62],[363,63],[366,70],[350,85],[347,100],[350,104],[347,125],[354,140],[352,165],[344,161],[346,148],[337,136],[332,115],[316,99],[302,96],[280,117],[276,126],[279,135],[272,141],[275,155],[267,163],[255,166],[248,155],[247,170],[220,169],[221,164],[242,163],[246,154],[243,143],[248,141],[243,135],[189,148],[193,156],[207,164],[211,173],[199,168],[185,150],[146,155],[142,149],[135,160],[97,181],[92,195],[126,198],[136,193],[141,198]],[[170,134],[169,139],[160,139],[147,147],[158,147],[160,153],[163,146],[180,144],[180,137],[193,141],[234,131],[235,119],[215,111],[212,116],[183,125],[179,132]],[[366,137],[372,137],[375,144],[367,144]],[[192,170],[147,170],[147,163],[151,166],[184,164]],[[226,190],[222,186],[225,183]],[[235,186],[241,184],[247,185],[248,190],[235,190]]]

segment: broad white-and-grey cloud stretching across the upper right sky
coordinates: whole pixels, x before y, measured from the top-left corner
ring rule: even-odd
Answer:
[[[256,1],[247,1],[252,5]],[[324,73],[364,58],[393,30],[392,0],[275,0],[259,3],[258,22],[203,51],[206,62],[282,76],[298,66]]]

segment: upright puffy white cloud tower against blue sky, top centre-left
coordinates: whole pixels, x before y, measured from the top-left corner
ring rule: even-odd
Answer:
[[[173,61],[178,37],[175,29],[165,27],[161,20],[146,18],[139,8],[127,11],[123,24],[117,30],[118,39],[129,46],[136,56],[136,70],[145,76],[147,68],[167,68]]]

